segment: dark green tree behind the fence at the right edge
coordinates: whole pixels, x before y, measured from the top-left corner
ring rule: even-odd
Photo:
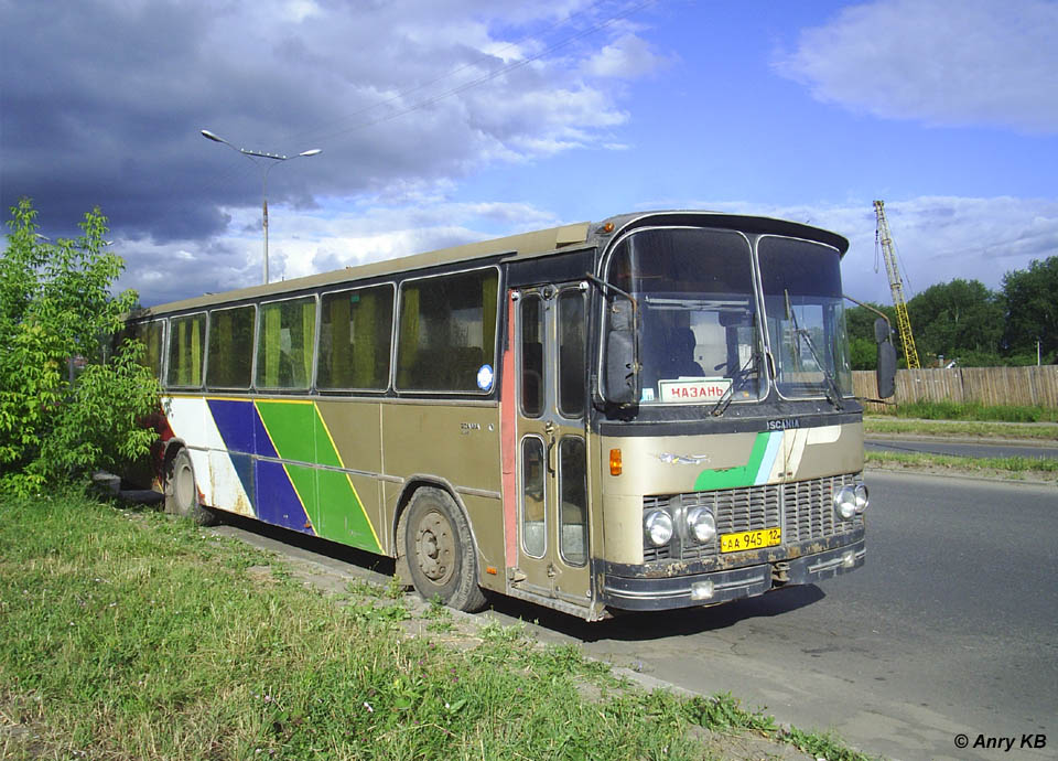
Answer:
[[[1003,345],[1011,355],[1040,354],[1054,362],[1058,354],[1058,256],[1034,259],[1027,270],[1003,276],[1003,306],[1006,331]]]

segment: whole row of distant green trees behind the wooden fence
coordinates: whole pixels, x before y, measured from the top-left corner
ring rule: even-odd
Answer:
[[[885,312],[896,330],[896,310]],[[956,362],[963,367],[1035,365],[1036,342],[1043,364],[1058,361],[1058,256],[1034,260],[1028,269],[1003,276],[998,291],[980,280],[956,278],[930,286],[907,302],[911,333],[922,367]],[[874,369],[874,320],[863,307],[846,312],[853,369]],[[897,354],[906,367],[899,332]]]

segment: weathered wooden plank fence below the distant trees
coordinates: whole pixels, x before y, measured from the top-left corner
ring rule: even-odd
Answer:
[[[854,371],[852,385],[856,396],[877,398],[872,371]],[[1058,408],[1058,365],[896,371],[896,395],[889,401],[942,400]],[[865,407],[870,411],[883,409],[876,404],[866,404]]]

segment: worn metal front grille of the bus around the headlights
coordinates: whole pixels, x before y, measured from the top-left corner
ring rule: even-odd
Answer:
[[[678,527],[672,540],[661,547],[644,542],[644,562],[654,560],[697,560],[720,553],[721,534],[781,528],[782,544],[833,536],[863,526],[863,516],[840,521],[834,515],[834,492],[862,479],[854,473],[785,484],[719,489],[643,497],[644,511],[666,510]],[[682,516],[694,507],[708,507],[716,518],[717,538],[698,544],[679,528]]]

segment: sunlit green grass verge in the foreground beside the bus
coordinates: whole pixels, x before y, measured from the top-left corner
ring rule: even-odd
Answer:
[[[396,583],[328,598],[187,521],[83,497],[0,516],[3,758],[701,759],[697,727],[865,758],[517,629],[455,644],[436,603],[409,625]]]

